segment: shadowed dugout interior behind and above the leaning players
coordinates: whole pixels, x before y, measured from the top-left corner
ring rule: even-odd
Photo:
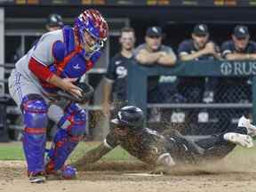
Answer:
[[[211,37],[218,44],[229,38],[236,24],[248,25],[252,39],[256,39],[254,20],[256,12],[254,4],[251,4],[250,0],[220,0],[220,4],[215,4],[217,1],[214,0],[202,2],[196,0],[1,1],[0,62],[1,64],[7,63],[12,66],[13,57],[17,52],[20,52],[20,55],[27,52],[36,38],[44,33],[44,24],[50,13],[59,13],[66,24],[71,24],[77,13],[84,8],[93,7],[99,9],[108,18],[110,36],[104,51],[104,57],[98,67],[92,69],[92,72],[86,76],[86,81],[97,87],[94,100],[89,107],[89,111],[93,116],[94,111],[100,110],[100,82],[106,71],[109,58],[118,52],[119,47],[116,46],[119,35],[118,30],[124,26],[135,28],[137,44],[141,44],[144,41],[146,29],[149,26],[158,25],[164,29],[166,34],[164,44],[171,44],[175,51],[178,44],[190,36],[193,25],[198,22],[204,22],[209,25]],[[9,72],[10,70],[1,68],[0,78],[6,79],[9,76]],[[6,84],[5,86],[4,84],[2,85],[5,88],[4,92],[8,93]],[[13,116],[16,116],[17,110],[9,106],[7,112],[12,116],[10,121],[13,123]],[[106,134],[102,134],[102,132],[105,132],[106,129],[100,131],[100,124],[95,122],[92,123],[92,127],[94,126],[98,127],[99,132],[88,133],[97,139],[102,138]],[[11,124],[10,127],[14,130],[20,129],[17,124],[14,126]]]

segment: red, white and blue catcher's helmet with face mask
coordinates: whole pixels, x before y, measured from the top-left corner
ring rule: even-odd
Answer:
[[[92,51],[99,51],[108,37],[108,23],[99,11],[88,9],[82,12],[74,24],[76,36],[80,44],[84,44],[84,30],[87,31],[97,43],[91,47]]]

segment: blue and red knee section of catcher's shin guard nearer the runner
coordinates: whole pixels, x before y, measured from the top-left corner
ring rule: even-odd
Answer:
[[[86,112],[75,103],[71,103],[65,109],[65,114],[60,118],[58,126],[66,129],[68,134],[74,138],[81,138],[85,133]]]

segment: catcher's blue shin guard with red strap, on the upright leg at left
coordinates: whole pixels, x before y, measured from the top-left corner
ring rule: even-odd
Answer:
[[[44,172],[44,148],[48,106],[40,95],[23,98],[21,109],[24,118],[23,149],[28,164],[28,175]]]

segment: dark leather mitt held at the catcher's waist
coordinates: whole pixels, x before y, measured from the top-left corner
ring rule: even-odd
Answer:
[[[76,103],[85,104],[92,98],[92,94],[94,92],[92,86],[90,84],[85,83],[77,83],[76,86],[78,86],[80,89],[82,89],[82,96],[81,97],[75,97],[71,93],[60,90],[57,92],[57,95],[60,98],[65,98],[66,100],[70,100]]]

